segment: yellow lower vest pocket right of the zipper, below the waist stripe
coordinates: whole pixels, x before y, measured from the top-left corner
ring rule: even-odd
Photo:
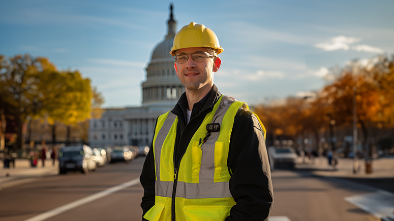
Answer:
[[[185,217],[188,221],[204,220],[217,221],[224,220],[230,215],[232,206],[185,206]]]

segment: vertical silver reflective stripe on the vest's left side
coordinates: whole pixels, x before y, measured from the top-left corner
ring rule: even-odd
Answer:
[[[166,120],[163,123],[162,128],[160,128],[159,133],[157,134],[156,141],[155,141],[155,158],[156,158],[156,177],[160,180],[160,154],[162,151],[162,146],[164,140],[166,139],[168,132],[172,124],[176,119],[176,115],[172,114],[171,112],[168,113]]]

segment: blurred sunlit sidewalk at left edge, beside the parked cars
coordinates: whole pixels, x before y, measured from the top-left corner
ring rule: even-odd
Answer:
[[[12,164],[11,164],[12,165]],[[42,161],[38,161],[38,166],[33,168],[27,159],[16,159],[15,168],[4,168],[3,161],[0,161],[0,191],[6,188],[34,181],[42,176],[58,174],[58,162],[52,165],[52,160],[45,161],[45,167],[42,167]]]

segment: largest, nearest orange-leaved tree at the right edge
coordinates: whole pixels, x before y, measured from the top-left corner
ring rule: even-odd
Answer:
[[[362,131],[366,148],[370,133],[375,128],[394,125],[394,60],[379,56],[368,62],[351,62],[326,86],[319,102],[324,112],[338,125],[353,122],[353,94],[356,91],[357,124]]]

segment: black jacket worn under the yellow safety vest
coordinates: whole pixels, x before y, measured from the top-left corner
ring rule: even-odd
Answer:
[[[221,93],[214,85],[211,91],[199,102],[193,105],[189,124],[186,123],[186,108],[188,101],[184,93],[171,110],[178,116],[175,138],[174,166],[180,160],[186,148],[199,128],[206,114],[213,110]],[[226,221],[252,221],[267,220],[272,207],[272,182],[268,156],[265,148],[263,134],[259,129],[258,121],[253,114],[244,109],[238,110],[231,132],[229,156],[227,166],[231,170],[229,187],[236,205],[231,208],[230,216]],[[180,137],[182,137],[180,142]],[[180,143],[179,143],[180,142]],[[146,156],[140,176],[144,188],[141,207],[143,215],[155,205],[155,160],[153,148]]]

